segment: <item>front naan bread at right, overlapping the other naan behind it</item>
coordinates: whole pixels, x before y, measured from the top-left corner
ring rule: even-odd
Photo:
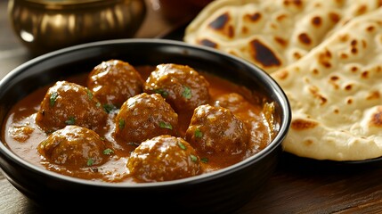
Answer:
[[[286,152],[332,161],[382,156],[382,8],[271,76],[292,107]]]

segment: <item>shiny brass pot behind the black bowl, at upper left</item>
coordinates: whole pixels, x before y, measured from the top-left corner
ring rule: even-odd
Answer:
[[[12,27],[35,53],[98,40],[134,37],[144,0],[10,0]]]

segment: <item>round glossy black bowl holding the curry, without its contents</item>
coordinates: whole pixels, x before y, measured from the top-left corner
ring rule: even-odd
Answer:
[[[118,39],[76,45],[46,53],[12,70],[0,82],[0,119],[31,91],[94,65],[119,59],[133,65],[187,64],[265,95],[275,103],[276,135],[263,151],[231,167],[196,177],[150,184],[105,184],[42,169],[0,144],[0,167],[21,193],[42,208],[133,210],[165,213],[227,213],[248,202],[272,175],[282,152],[291,112],[280,86],[263,70],[208,47],[165,39]],[[4,136],[1,141],[4,142]]]

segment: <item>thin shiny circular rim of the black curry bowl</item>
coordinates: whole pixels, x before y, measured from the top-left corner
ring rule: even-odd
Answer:
[[[72,45],[69,47],[61,48],[59,50],[55,50],[50,53],[44,53],[40,56],[37,56],[31,60],[28,60],[27,62],[24,62],[20,64],[15,69],[11,70],[9,73],[7,73],[4,78],[0,79],[0,87],[6,85],[6,83],[10,82],[12,78],[17,77],[18,75],[22,74],[24,70],[28,70],[28,67],[34,64],[37,64],[38,62],[43,62],[45,60],[48,60],[50,58],[54,58],[57,56],[60,56],[61,54],[65,53],[71,53],[76,52],[77,50],[86,49],[86,48],[92,48],[95,46],[102,46],[102,45],[118,45],[118,44],[131,44],[131,43],[142,43],[142,44],[160,44],[160,45],[170,45],[170,46],[176,46],[176,47],[183,47],[187,49],[197,49],[199,51],[207,52],[207,53],[213,53],[223,56],[224,58],[230,58],[233,61],[240,62],[244,64],[244,66],[250,68],[250,70],[255,70],[256,72],[263,72],[263,78],[266,80],[266,82],[272,87],[272,91],[275,93],[275,97],[277,97],[277,100],[280,101],[280,107],[282,109],[282,117],[280,118],[280,127],[279,131],[276,136],[273,137],[270,144],[265,146],[263,150],[260,152],[256,152],[255,154],[249,156],[245,160],[242,160],[238,163],[233,164],[232,166],[226,167],[224,169],[218,169],[215,171],[211,171],[208,173],[204,173],[201,175],[193,176],[193,177],[186,177],[182,179],[177,180],[171,180],[171,181],[161,181],[161,182],[152,182],[152,183],[129,183],[129,182],[122,182],[122,183],[109,183],[109,182],[102,182],[102,181],[94,181],[94,180],[86,180],[81,179],[77,177],[69,177],[64,176],[59,173],[49,171],[48,169],[43,169],[41,167],[38,167],[37,165],[34,165],[33,163],[30,163],[24,159],[22,159],[20,156],[18,156],[16,153],[12,152],[12,150],[7,147],[0,139],[0,152],[6,156],[7,158],[11,159],[15,163],[19,164],[20,166],[23,166],[26,169],[33,170],[37,172],[40,175],[45,175],[48,177],[53,177],[55,179],[61,179],[67,182],[77,183],[80,185],[89,185],[89,186],[102,186],[102,187],[108,187],[108,188],[142,188],[142,187],[158,187],[158,186],[172,186],[172,185],[190,185],[190,184],[196,184],[196,183],[202,183],[207,180],[213,180],[218,177],[225,177],[227,175],[230,175],[232,173],[235,173],[236,171],[239,171],[240,169],[248,168],[250,165],[254,164],[257,161],[260,161],[262,158],[264,158],[267,154],[271,153],[272,151],[276,150],[280,144],[282,143],[283,139],[287,136],[289,131],[289,126],[291,123],[291,109],[290,104],[287,95],[284,93],[284,91],[281,89],[279,84],[264,70],[261,70],[259,67],[257,67],[255,64],[252,64],[250,62],[247,62],[237,56],[234,56],[229,53],[223,53],[221,51],[218,51],[212,47],[207,47],[203,45],[191,45],[187,44],[183,41],[177,41],[177,40],[171,40],[171,39],[164,39],[164,38],[120,38],[120,39],[109,39],[109,40],[102,40],[102,41],[96,41],[96,42],[90,42],[85,43],[81,45]],[[2,122],[4,124],[5,120]],[[3,125],[2,125],[3,126]],[[0,166],[1,167],[1,166]]]

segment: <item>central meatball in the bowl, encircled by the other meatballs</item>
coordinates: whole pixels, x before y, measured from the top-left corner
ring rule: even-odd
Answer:
[[[142,93],[122,104],[115,118],[114,136],[126,143],[142,141],[160,135],[177,135],[178,115],[158,95]]]

